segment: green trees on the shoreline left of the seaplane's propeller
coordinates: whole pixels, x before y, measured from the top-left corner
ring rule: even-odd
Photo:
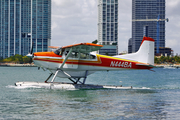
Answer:
[[[32,63],[32,59],[27,56],[22,56],[19,54],[16,54],[14,56],[0,59],[1,63],[16,63],[16,64],[24,64],[24,63]]]

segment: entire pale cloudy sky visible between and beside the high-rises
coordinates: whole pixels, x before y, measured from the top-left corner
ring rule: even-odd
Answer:
[[[52,46],[92,42],[98,38],[98,0],[52,0]],[[180,0],[166,0],[166,47],[180,55]],[[128,51],[132,0],[119,0],[119,52]]]

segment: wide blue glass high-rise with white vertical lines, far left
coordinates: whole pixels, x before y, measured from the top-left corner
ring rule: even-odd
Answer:
[[[0,57],[47,51],[51,0],[0,0]]]

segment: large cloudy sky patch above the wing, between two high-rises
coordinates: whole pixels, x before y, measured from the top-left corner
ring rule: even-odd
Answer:
[[[96,0],[52,1],[52,45],[97,39]]]

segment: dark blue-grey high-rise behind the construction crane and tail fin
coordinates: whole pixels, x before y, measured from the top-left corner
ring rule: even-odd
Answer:
[[[144,28],[148,28],[146,34],[149,37],[157,40],[157,21],[151,19],[158,19],[158,15],[160,19],[165,19],[165,0],[132,0],[132,39],[129,41],[129,53],[139,50]],[[159,47],[165,47],[165,21],[160,21],[159,24]],[[156,44],[157,42],[155,47]]]

